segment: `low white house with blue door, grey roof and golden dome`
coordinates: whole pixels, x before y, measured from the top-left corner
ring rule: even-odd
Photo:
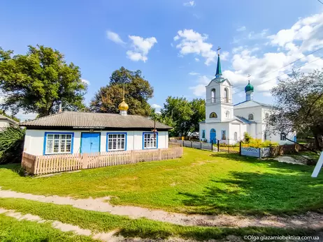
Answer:
[[[122,101],[120,114],[59,112],[21,123],[27,128],[24,152],[52,155],[168,148],[171,127],[127,115],[128,108]]]

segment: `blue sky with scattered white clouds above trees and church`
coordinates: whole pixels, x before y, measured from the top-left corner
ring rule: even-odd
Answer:
[[[0,6],[0,46],[22,54],[40,44],[64,53],[89,82],[87,103],[121,66],[143,71],[156,107],[167,96],[204,98],[218,46],[234,103],[245,99],[248,73],[254,99],[272,103],[275,77],[306,63],[304,72],[323,66],[323,50],[306,56],[323,47],[323,5],[316,0],[1,0]]]

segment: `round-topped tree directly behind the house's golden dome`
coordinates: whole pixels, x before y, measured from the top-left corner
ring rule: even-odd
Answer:
[[[124,67],[115,70],[110,77],[110,83],[101,87],[95,94],[90,103],[90,110],[119,113],[118,105],[122,102],[123,87],[129,114],[150,116],[151,107],[148,99],[152,98],[154,89],[144,79],[141,70],[131,71]]]

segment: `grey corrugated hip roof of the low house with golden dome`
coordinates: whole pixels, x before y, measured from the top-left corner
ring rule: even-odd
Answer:
[[[120,114],[91,112],[60,112],[31,121],[20,123],[30,127],[73,127],[73,128],[154,128],[154,121],[137,115],[122,116]],[[156,122],[158,129],[171,129],[163,123]]]

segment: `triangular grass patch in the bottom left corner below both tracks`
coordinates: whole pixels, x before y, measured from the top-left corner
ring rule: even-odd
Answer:
[[[96,241],[89,236],[61,232],[49,223],[17,220],[0,214],[0,241]]]

